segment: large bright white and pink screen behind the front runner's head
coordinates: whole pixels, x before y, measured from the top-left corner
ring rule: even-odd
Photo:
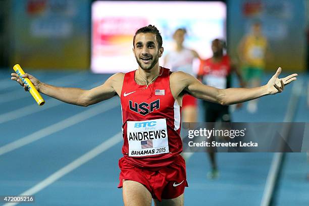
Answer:
[[[128,72],[138,68],[133,48],[135,31],[155,25],[163,37],[164,56],[174,46],[177,28],[187,31],[184,45],[201,58],[212,55],[211,41],[226,36],[226,5],[222,2],[96,1],[92,3],[91,70]]]

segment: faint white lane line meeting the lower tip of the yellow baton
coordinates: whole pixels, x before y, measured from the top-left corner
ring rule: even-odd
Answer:
[[[102,81],[96,82],[96,83],[92,84],[91,86],[87,86],[87,88],[96,87],[100,83],[102,83]],[[13,110],[11,112],[1,114],[0,115],[0,124],[11,121],[11,120],[15,120],[17,118],[25,117],[25,116],[30,115],[30,114],[41,112],[41,111],[47,110],[49,108],[57,107],[61,104],[64,104],[63,101],[53,99],[51,97],[47,97],[45,99],[45,101],[46,101],[45,105],[43,107],[40,107],[40,108],[38,108],[37,104],[31,104],[31,105],[25,106],[23,108]]]

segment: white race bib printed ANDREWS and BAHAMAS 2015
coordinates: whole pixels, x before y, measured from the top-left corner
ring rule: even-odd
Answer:
[[[169,153],[166,119],[128,121],[129,157]]]

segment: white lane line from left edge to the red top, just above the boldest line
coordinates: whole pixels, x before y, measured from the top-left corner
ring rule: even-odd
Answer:
[[[13,141],[9,144],[6,144],[2,147],[0,147],[0,156],[4,155],[5,153],[12,151],[14,149],[17,149],[19,147],[25,146],[27,144],[30,144],[36,140],[39,140],[43,137],[46,137],[50,134],[54,134],[55,132],[61,131],[63,129],[66,129],[70,126],[73,126],[77,123],[80,123],[86,119],[89,119],[91,117],[94,117],[100,113],[104,113],[106,111],[109,111],[113,108],[116,108],[119,106],[119,99],[111,99],[104,104],[99,104],[97,106],[94,106],[92,108],[87,109],[86,111],[80,112],[77,115],[73,115],[65,120],[62,120],[56,124],[50,125],[48,127],[45,127],[43,129],[40,129],[32,134],[29,134],[25,137],[22,137],[16,141]]]

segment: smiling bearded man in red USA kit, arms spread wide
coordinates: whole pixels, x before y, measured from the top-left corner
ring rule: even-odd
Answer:
[[[117,73],[104,84],[90,90],[56,87],[25,74],[36,89],[69,104],[84,106],[120,96],[123,119],[123,158],[119,160],[120,183],[125,205],[183,205],[187,186],[180,138],[182,96],[232,105],[267,94],[282,92],[297,74],[279,79],[279,68],[269,82],[256,88],[218,89],[203,85],[184,72],[171,73],[160,67],[162,37],[155,26],[136,31],[133,53],[139,65],[129,73]],[[12,73],[12,80],[27,87]]]

